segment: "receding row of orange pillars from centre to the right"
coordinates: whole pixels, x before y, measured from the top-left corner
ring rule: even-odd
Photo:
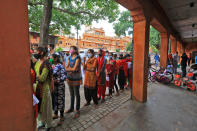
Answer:
[[[149,53],[149,28],[150,21],[146,18],[134,21],[134,52],[133,52],[133,91],[132,96],[139,102],[147,101],[148,82],[148,53]],[[161,32],[160,66],[167,67],[168,53],[178,51],[179,55],[184,52],[183,44],[170,39],[168,32]],[[168,52],[169,39],[171,40],[171,52]]]

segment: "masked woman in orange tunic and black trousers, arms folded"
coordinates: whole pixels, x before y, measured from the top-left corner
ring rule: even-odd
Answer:
[[[88,60],[84,62],[85,70],[85,81],[84,81],[84,93],[86,104],[85,106],[90,105],[91,99],[93,99],[94,104],[98,105],[97,97],[97,87],[96,87],[96,69],[97,69],[97,59],[94,57],[94,50],[88,50]]]

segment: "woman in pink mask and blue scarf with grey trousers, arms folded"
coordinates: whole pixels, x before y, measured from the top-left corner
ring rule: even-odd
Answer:
[[[78,54],[78,48],[76,46],[70,47],[70,57],[66,65],[67,83],[70,91],[70,109],[66,113],[74,111],[75,97],[76,101],[76,113],[74,118],[78,118],[80,115],[80,93],[79,88],[82,83],[81,76],[81,58]]]

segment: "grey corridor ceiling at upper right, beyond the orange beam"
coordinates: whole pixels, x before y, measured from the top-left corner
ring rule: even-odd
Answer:
[[[185,42],[197,42],[197,0],[158,0]]]

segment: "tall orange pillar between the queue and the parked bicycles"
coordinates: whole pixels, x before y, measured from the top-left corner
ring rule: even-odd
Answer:
[[[133,98],[147,101],[149,27],[146,19],[134,22]]]

